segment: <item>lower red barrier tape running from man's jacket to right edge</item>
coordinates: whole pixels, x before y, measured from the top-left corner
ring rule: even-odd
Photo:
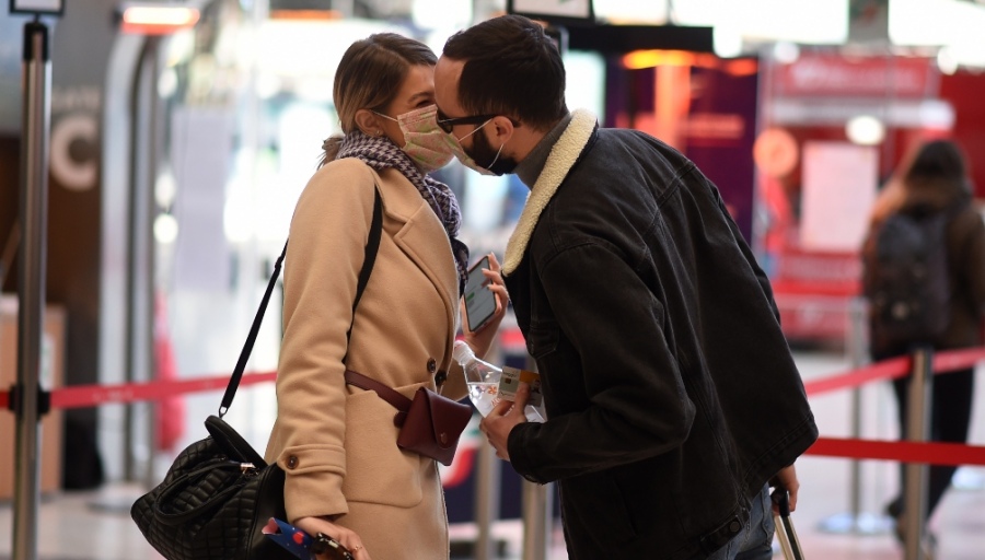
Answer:
[[[890,459],[930,465],[985,465],[985,446],[959,443],[888,442],[880,440],[845,440],[820,438],[808,455],[856,459]]]

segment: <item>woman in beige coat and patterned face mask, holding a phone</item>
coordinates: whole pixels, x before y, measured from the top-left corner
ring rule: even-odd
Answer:
[[[421,386],[465,396],[452,347],[467,249],[455,238],[454,196],[427,176],[452,158],[434,116],[436,62],[427,46],[395,34],[349,47],[333,91],[345,135],[324,143],[285,260],[278,418],[266,457],[287,474],[288,521],[336,538],[357,560],[449,557],[436,462],[398,448],[393,407],[344,380],[349,369],[407,397]],[[383,234],[354,318],[374,189]],[[505,313],[490,261],[496,317],[465,332],[477,353]]]

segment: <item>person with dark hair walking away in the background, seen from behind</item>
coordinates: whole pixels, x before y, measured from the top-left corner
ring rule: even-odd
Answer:
[[[942,215],[946,219],[943,241],[947,278],[950,284],[947,326],[932,341],[937,350],[975,347],[982,343],[981,326],[985,317],[985,225],[972,203],[972,192],[959,147],[949,140],[934,140],[907,154],[900,173],[880,195],[872,212],[872,225],[864,248],[866,278],[877,273],[874,257],[881,224],[892,214],[914,217]],[[870,317],[872,359],[907,354],[911,345],[888,341],[878,316]],[[908,378],[895,380],[893,389],[900,413],[900,433],[905,436],[907,423]],[[931,402],[931,440],[965,443],[972,415],[974,369],[934,376]],[[957,467],[931,466],[927,492],[926,518],[934,514],[943,498]],[[902,492],[901,492],[902,493]],[[901,521],[902,495],[887,508]],[[897,523],[902,538],[903,524]]]

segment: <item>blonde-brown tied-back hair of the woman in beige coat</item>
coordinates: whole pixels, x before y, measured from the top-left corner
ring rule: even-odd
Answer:
[[[349,46],[335,71],[332,90],[343,133],[322,142],[324,153],[318,166],[338,155],[345,135],[356,129],[356,112],[383,110],[412,66],[436,63],[438,57],[427,45],[396,33],[376,33]]]

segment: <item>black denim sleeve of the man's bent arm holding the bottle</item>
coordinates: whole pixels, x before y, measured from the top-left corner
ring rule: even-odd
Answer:
[[[513,468],[529,480],[548,482],[679,446],[695,407],[667,343],[663,304],[601,243],[563,250],[540,277],[558,327],[581,362],[580,372],[557,375],[583,383],[589,402],[543,424],[515,427],[508,441]]]

